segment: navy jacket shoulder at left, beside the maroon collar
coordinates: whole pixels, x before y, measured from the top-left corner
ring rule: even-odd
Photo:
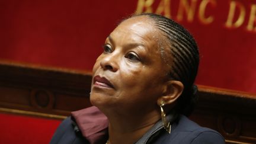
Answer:
[[[66,118],[60,123],[50,144],[55,143],[88,143],[81,134],[75,132],[75,126],[71,117]]]

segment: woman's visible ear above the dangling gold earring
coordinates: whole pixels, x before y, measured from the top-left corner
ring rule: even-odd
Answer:
[[[182,94],[184,89],[184,85],[180,81],[168,81],[164,85],[163,94],[158,98],[157,103],[161,105],[164,104],[173,104],[177,100],[178,97]]]

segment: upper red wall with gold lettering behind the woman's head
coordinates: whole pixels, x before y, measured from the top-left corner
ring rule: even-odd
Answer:
[[[138,1],[0,1],[0,59],[91,71],[105,37],[122,18],[136,11]],[[203,23],[198,16],[205,0],[194,0],[193,20],[188,21],[185,13],[180,20],[200,47],[197,84],[256,93],[256,30],[247,28],[250,15],[256,17],[251,12],[256,2],[235,1],[238,6],[232,23],[239,8],[245,9],[245,19],[232,28],[225,26],[231,1],[209,1],[204,16],[213,17],[212,23]],[[152,2],[155,12],[161,2]],[[183,7],[178,0],[169,2],[169,13],[178,20],[178,9]],[[256,20],[252,22],[256,27]]]

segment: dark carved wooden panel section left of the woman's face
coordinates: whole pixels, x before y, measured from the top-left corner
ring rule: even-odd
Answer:
[[[90,88],[89,72],[0,62],[2,108],[68,116],[91,105]]]

